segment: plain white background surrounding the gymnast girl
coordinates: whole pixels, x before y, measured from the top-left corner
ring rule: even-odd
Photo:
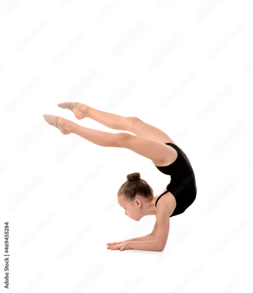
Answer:
[[[112,1],[12,2],[1,1],[0,20],[1,290],[8,221],[8,292],[247,292],[253,270],[251,1],[172,0],[161,7],[162,1],[128,0],[112,9]],[[85,37],[60,55],[81,32]],[[163,56],[170,42],[174,47]],[[155,223],[154,216],[134,222],[119,207],[117,191],[127,174],[140,172],[155,195],[170,177],[128,149],[62,135],[44,121],[43,114],[54,114],[119,132],[57,107],[93,70],[99,73],[72,101],[160,128],[195,171],[197,198],[170,218],[163,252],[111,251],[106,243],[148,234]],[[123,97],[130,82],[136,86]]]

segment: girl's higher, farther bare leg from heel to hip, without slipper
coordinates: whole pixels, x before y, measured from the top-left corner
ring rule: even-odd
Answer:
[[[142,121],[138,117],[125,117],[116,115],[113,113],[97,110],[82,103],[79,103],[78,105],[85,113],[86,117],[89,117],[107,126],[108,128],[129,131],[134,133],[136,136],[150,138],[164,144],[167,142],[174,143],[165,132]],[[76,109],[74,113],[77,118],[79,115],[80,117],[83,117],[78,109]]]

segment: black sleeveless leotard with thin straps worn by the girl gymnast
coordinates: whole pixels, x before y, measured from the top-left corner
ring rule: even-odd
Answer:
[[[167,145],[177,151],[177,158],[169,166],[156,166],[156,168],[166,175],[170,175],[170,183],[167,185],[167,191],[161,194],[159,198],[167,192],[171,192],[176,199],[176,208],[170,217],[182,214],[195,200],[197,187],[195,175],[186,154],[176,144],[167,142]]]

